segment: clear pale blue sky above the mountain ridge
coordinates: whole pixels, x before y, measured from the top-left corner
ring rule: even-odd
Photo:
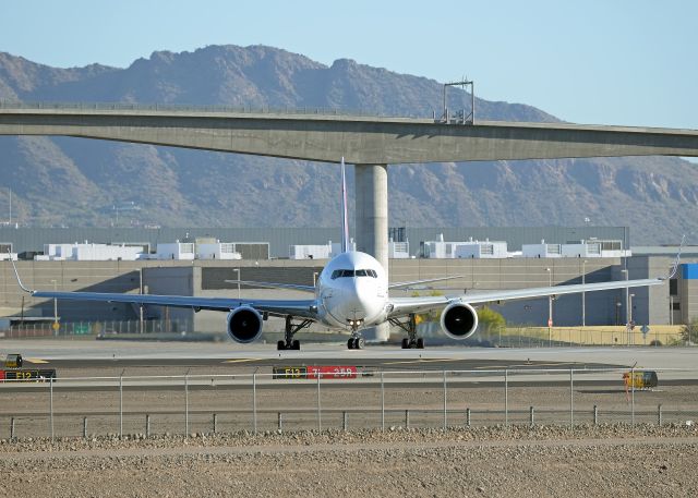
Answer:
[[[698,2],[4,0],[0,51],[125,68],[154,50],[269,45],[349,58],[567,121],[698,129]]]

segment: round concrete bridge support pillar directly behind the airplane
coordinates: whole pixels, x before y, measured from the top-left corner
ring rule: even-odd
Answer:
[[[388,169],[387,165],[356,165],[357,251],[375,257],[388,271]],[[366,340],[386,341],[383,324],[364,331]]]

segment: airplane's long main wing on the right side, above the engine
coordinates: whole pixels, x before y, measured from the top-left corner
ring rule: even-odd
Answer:
[[[437,309],[447,306],[453,302],[461,302],[472,305],[500,303],[504,301],[526,300],[532,297],[544,297],[547,295],[574,294],[578,292],[607,291],[613,289],[625,289],[633,287],[659,286],[666,282],[665,279],[640,279],[640,280],[616,280],[600,283],[576,283],[556,287],[537,287],[529,289],[488,291],[476,294],[460,295],[425,295],[419,297],[390,297],[390,317],[405,316],[410,313],[424,313],[430,309]]]

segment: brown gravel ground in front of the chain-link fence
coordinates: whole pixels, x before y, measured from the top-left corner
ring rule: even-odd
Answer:
[[[695,425],[0,440],[8,497],[698,496]]]

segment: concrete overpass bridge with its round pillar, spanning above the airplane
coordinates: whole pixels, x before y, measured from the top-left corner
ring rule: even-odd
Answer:
[[[357,244],[387,268],[387,165],[698,157],[698,131],[254,112],[128,104],[1,104],[0,135],[62,135],[356,165]]]

